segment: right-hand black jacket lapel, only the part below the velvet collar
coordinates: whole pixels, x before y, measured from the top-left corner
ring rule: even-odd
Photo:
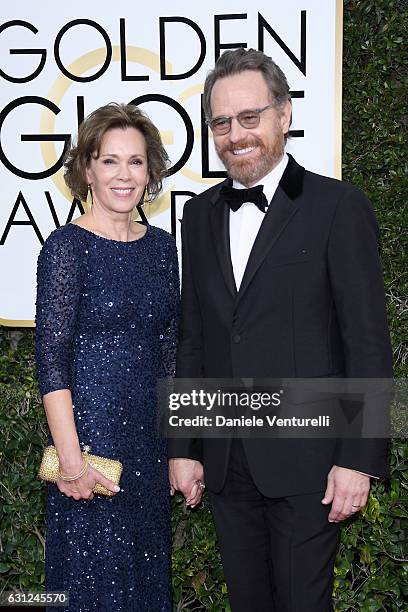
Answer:
[[[252,247],[238,292],[238,301],[247,290],[258,268],[297,210],[298,206],[294,204],[279,185]]]

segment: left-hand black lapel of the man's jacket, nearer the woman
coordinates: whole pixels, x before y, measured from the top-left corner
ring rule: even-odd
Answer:
[[[231,262],[229,237],[229,208],[220,199],[213,202],[210,211],[211,230],[214,240],[215,252],[220,264],[225,283],[232,297],[235,299],[237,288]]]

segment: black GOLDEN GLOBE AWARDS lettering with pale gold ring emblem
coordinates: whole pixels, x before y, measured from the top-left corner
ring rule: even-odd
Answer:
[[[220,53],[226,48],[234,48],[245,46],[247,43],[224,43],[221,39],[221,24],[224,21],[231,21],[237,19],[245,19],[246,15],[215,15],[214,16],[214,47],[215,56],[218,57]],[[191,29],[198,41],[199,41],[199,55],[196,58],[192,58],[192,65],[187,71],[183,73],[174,73],[171,68],[171,62],[166,56],[166,43],[169,28],[171,24],[182,24],[183,27]],[[66,66],[61,58],[61,44],[64,39],[69,37],[70,31],[77,28],[78,26],[87,26],[92,28],[95,32],[100,35],[103,47],[95,49],[83,56],[77,58],[76,61]],[[38,29],[33,23],[23,20],[12,20],[4,23],[0,27],[1,32],[14,28],[16,32],[19,28],[25,28],[37,34]],[[42,179],[51,178],[61,193],[69,200],[70,196],[67,192],[65,184],[63,182],[62,174],[60,172],[64,153],[70,142],[71,134],[64,133],[59,134],[55,131],[55,118],[61,112],[59,103],[61,102],[64,95],[67,93],[72,83],[93,83],[100,79],[102,75],[110,68],[111,64],[117,62],[120,66],[120,80],[122,82],[146,82],[149,81],[148,74],[134,74],[130,72],[129,64],[134,62],[139,65],[144,65],[152,70],[159,72],[161,81],[181,81],[188,80],[194,77],[198,70],[202,67],[204,60],[207,56],[208,42],[206,37],[197,23],[187,17],[158,17],[158,28],[159,28],[159,53],[156,54],[148,49],[135,47],[127,44],[126,34],[126,20],[124,18],[119,19],[119,45],[113,45],[111,36],[99,23],[91,19],[74,19],[65,23],[57,32],[54,40],[52,55],[47,49],[10,49],[10,53],[18,55],[32,55],[38,59],[36,67],[25,76],[17,77],[12,74],[6,73],[6,71],[0,69],[0,75],[3,79],[11,83],[30,83],[37,79],[44,67],[46,62],[54,61],[59,71],[59,76],[51,86],[48,96],[34,96],[26,95],[18,97],[4,106],[0,113],[0,132],[8,116],[18,107],[25,105],[37,105],[41,107],[41,124],[39,133],[21,134],[22,142],[38,142],[41,147],[42,158],[44,161],[45,169],[41,171],[33,171],[27,167],[26,160],[22,159],[21,164],[17,165],[13,163],[7,156],[7,150],[0,144],[0,161],[4,167],[16,177],[24,179],[30,179],[32,181],[39,181]],[[306,11],[300,13],[300,57],[297,57],[290,48],[286,45],[284,40],[277,34],[273,29],[272,25],[261,15],[258,15],[258,47],[262,49],[264,47],[265,35],[269,34],[272,36],[277,43],[285,50],[288,57],[298,67],[298,69],[306,74]],[[16,37],[17,38],[17,37]],[[117,78],[117,76],[115,77]],[[193,171],[189,168],[188,163],[194,146],[195,130],[192,119],[184,106],[180,101],[173,97],[164,95],[162,93],[146,93],[138,95],[131,100],[129,103],[135,105],[143,105],[149,102],[158,102],[160,104],[168,105],[171,107],[181,118],[184,129],[185,129],[185,146],[179,159],[177,159],[169,169],[169,176],[175,175],[177,172],[186,170],[185,174],[192,178],[194,181],[203,183],[203,179],[219,179],[225,176],[224,171],[215,170],[210,168],[209,163],[209,133],[208,126],[205,123],[205,118],[201,110],[200,97],[197,94],[201,94],[202,83],[197,84],[193,88],[189,88],[191,91],[183,91],[180,95],[181,99],[185,100],[188,96],[196,95],[197,103],[199,104],[200,111],[200,145],[201,145],[201,168],[200,170]],[[293,97],[303,97],[303,91],[292,92]],[[77,114],[77,125],[79,125],[84,119],[85,99],[83,95],[76,96],[76,114]],[[303,136],[302,130],[292,131],[292,136]],[[170,138],[172,135],[170,135]],[[164,134],[164,141],[166,141],[166,134]],[[61,143],[59,147],[59,154],[56,151],[55,144]],[[207,182],[207,181],[206,181]],[[216,182],[214,180],[209,181],[211,183]],[[170,193],[166,193],[161,198],[159,207],[156,207],[156,214],[162,212],[164,209],[170,207],[174,209],[176,199],[178,196],[193,196],[194,192],[186,190],[172,189]],[[45,201],[49,207],[50,214],[54,221],[56,221],[56,227],[59,225],[57,220],[57,214],[53,205],[52,196],[49,191],[44,192]],[[24,194],[20,191],[17,195],[15,202],[13,203],[10,216],[7,220],[6,226],[2,232],[0,238],[0,245],[3,245],[13,225],[21,225],[22,222],[16,222],[16,215],[19,208],[22,207],[28,217],[24,224],[30,224],[33,227],[38,239],[41,243],[44,242],[44,238],[41,231],[36,223],[34,215],[30,210],[30,206]],[[80,202],[72,200],[71,206],[68,212],[67,219],[64,222],[70,221],[75,212],[75,208],[83,211],[83,206]],[[174,220],[173,220],[174,221]],[[173,223],[174,225],[174,223]],[[172,228],[173,231],[175,228]]]

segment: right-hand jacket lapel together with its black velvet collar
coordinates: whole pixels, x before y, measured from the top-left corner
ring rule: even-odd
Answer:
[[[252,247],[244,276],[238,292],[238,302],[248,289],[256,272],[272,249],[286,225],[298,210],[295,198],[302,192],[304,168],[289,155],[289,161],[282,175],[275,195],[268,206],[265,219]]]

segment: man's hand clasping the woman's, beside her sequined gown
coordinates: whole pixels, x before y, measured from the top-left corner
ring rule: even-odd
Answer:
[[[204,469],[194,459],[169,459],[169,480],[171,495],[181,491],[187,506],[194,508],[204,492]]]

